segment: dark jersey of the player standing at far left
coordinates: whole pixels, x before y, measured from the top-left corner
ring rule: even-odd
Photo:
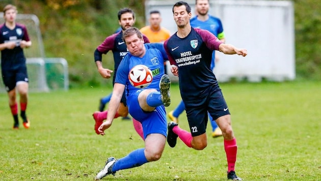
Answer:
[[[15,70],[21,65],[25,65],[23,49],[20,47],[22,40],[30,41],[24,25],[16,23],[14,29],[9,29],[5,24],[0,25],[0,43],[16,42],[15,48],[6,48],[1,51],[1,66],[3,70]]]

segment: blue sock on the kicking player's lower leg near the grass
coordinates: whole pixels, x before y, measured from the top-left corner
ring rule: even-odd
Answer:
[[[133,150],[130,154],[126,157],[123,157],[116,161],[115,165],[113,166],[112,171],[123,170],[127,168],[133,168],[143,165],[147,163],[147,159],[144,154],[145,148],[140,148]]]

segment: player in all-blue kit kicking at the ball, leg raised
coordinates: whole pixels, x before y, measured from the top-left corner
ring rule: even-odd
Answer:
[[[109,174],[114,175],[118,170],[138,167],[147,162],[159,160],[166,143],[167,120],[164,106],[170,105],[171,82],[168,75],[164,74],[164,61],[167,59],[164,46],[159,43],[155,45],[158,45],[158,48],[152,48],[149,44],[144,44],[143,35],[136,27],[126,29],[123,33],[123,40],[129,53],[118,67],[107,119],[100,125],[98,131],[104,135],[104,130],[111,127],[123,92],[126,92],[130,115],[143,125],[145,148],[133,150],[119,160],[113,157],[108,158],[96,179]],[[145,88],[136,88],[129,83],[129,71],[136,65],[145,65],[153,73],[151,84]]]

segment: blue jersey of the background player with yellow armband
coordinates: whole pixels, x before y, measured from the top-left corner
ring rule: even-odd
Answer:
[[[197,19],[197,16],[191,18],[190,23],[192,27],[206,29],[219,39],[225,38],[223,33],[223,25],[219,18],[208,15],[208,19],[206,21],[200,21]],[[211,69],[215,67],[215,51],[212,53],[212,66]]]

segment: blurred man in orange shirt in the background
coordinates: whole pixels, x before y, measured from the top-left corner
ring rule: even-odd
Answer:
[[[170,31],[161,26],[162,16],[159,11],[149,12],[148,22],[149,25],[142,27],[140,31],[149,39],[150,43],[162,43],[171,36]],[[164,70],[167,74],[166,62],[164,62]]]

